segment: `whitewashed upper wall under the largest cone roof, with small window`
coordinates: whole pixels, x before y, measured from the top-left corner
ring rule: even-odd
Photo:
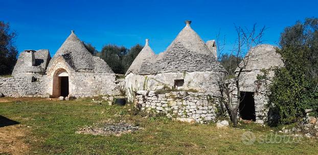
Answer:
[[[180,87],[181,90],[196,90],[200,93],[210,93],[214,96],[219,94],[217,84],[218,78],[223,75],[221,72],[202,71],[202,72],[169,72],[158,73],[152,75],[135,75],[128,74],[125,77],[125,87],[128,99],[132,98],[131,93],[137,90],[154,91],[158,86],[165,85],[172,88],[174,80],[184,79],[184,84]]]

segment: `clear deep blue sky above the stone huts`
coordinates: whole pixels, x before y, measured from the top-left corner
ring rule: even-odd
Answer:
[[[286,26],[305,17],[318,16],[312,1],[17,1],[0,0],[0,20],[10,23],[18,37],[16,46],[49,49],[51,55],[75,30],[77,36],[98,50],[113,43],[131,47],[146,38],[155,53],[163,52],[185,26],[205,41],[220,30],[226,48],[236,39],[234,24],[266,26],[266,43],[276,45]]]

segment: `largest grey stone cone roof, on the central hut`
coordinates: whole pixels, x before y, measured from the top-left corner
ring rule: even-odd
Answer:
[[[191,29],[191,21],[172,41],[167,50],[155,59],[146,60],[139,74],[167,72],[225,72],[199,35]]]

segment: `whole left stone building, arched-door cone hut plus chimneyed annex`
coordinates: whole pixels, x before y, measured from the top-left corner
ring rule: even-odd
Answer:
[[[104,60],[88,52],[74,31],[50,58],[48,50],[22,52],[13,77],[0,78],[0,93],[12,97],[119,94],[115,73]]]

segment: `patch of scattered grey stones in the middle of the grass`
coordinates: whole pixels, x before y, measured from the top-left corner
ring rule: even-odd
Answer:
[[[92,127],[87,126],[80,128],[76,131],[77,134],[91,134],[91,135],[115,135],[121,136],[122,134],[127,134],[130,132],[134,132],[140,129],[139,126],[134,126],[128,123],[120,122],[120,123],[106,123],[106,124],[98,124],[100,127]]]

